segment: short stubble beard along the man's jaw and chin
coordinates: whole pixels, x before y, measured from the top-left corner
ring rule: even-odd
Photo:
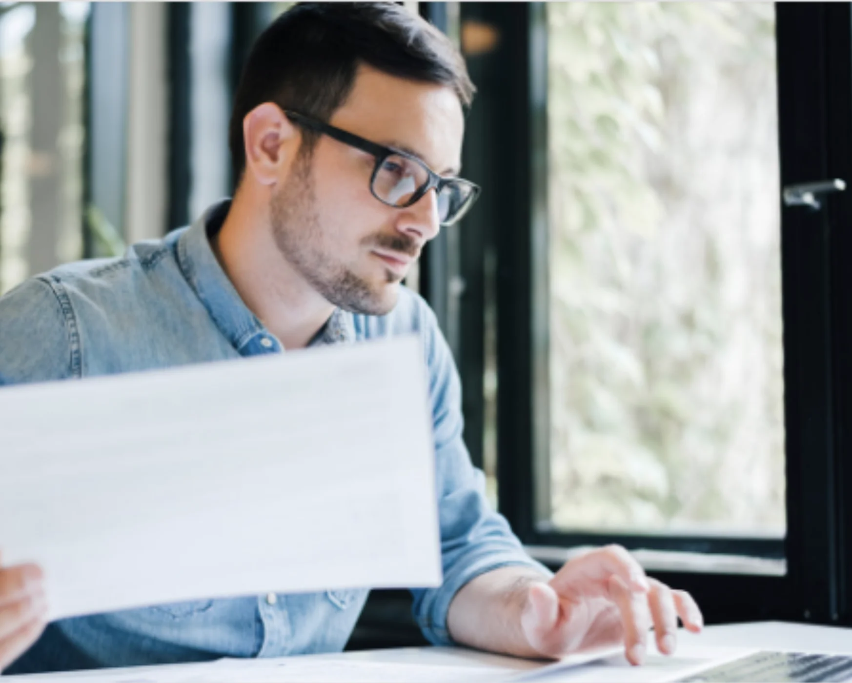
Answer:
[[[384,315],[396,296],[381,296],[365,278],[321,249],[322,229],[316,212],[311,156],[299,152],[290,178],[270,204],[273,236],[282,256],[321,296],[351,313]],[[387,283],[397,278],[387,272]]]

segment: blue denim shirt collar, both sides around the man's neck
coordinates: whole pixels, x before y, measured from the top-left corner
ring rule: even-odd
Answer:
[[[246,355],[256,336],[272,335],[233,288],[210,246],[210,237],[222,228],[230,206],[230,199],[213,204],[183,232],[177,243],[177,261],[210,318],[233,347]],[[354,342],[352,314],[335,308],[309,346],[350,342]]]

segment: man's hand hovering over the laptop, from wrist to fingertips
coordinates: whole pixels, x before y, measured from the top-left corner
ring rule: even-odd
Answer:
[[[691,595],[649,579],[625,548],[609,546],[570,560],[547,583],[528,583],[521,631],[542,657],[623,642],[640,664],[652,625],[659,651],[675,651],[677,617],[693,633],[704,625]]]

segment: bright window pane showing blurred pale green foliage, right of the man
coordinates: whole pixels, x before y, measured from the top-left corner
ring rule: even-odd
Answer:
[[[783,536],[771,3],[549,3],[551,521]]]

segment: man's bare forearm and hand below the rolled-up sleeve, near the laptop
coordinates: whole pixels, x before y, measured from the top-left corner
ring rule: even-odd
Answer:
[[[652,626],[659,651],[675,651],[678,617],[693,633],[704,625],[688,593],[649,579],[625,548],[607,546],[569,560],[550,579],[514,566],[476,577],[453,598],[447,627],[459,643],[519,657],[623,644],[630,663],[640,664]]]

